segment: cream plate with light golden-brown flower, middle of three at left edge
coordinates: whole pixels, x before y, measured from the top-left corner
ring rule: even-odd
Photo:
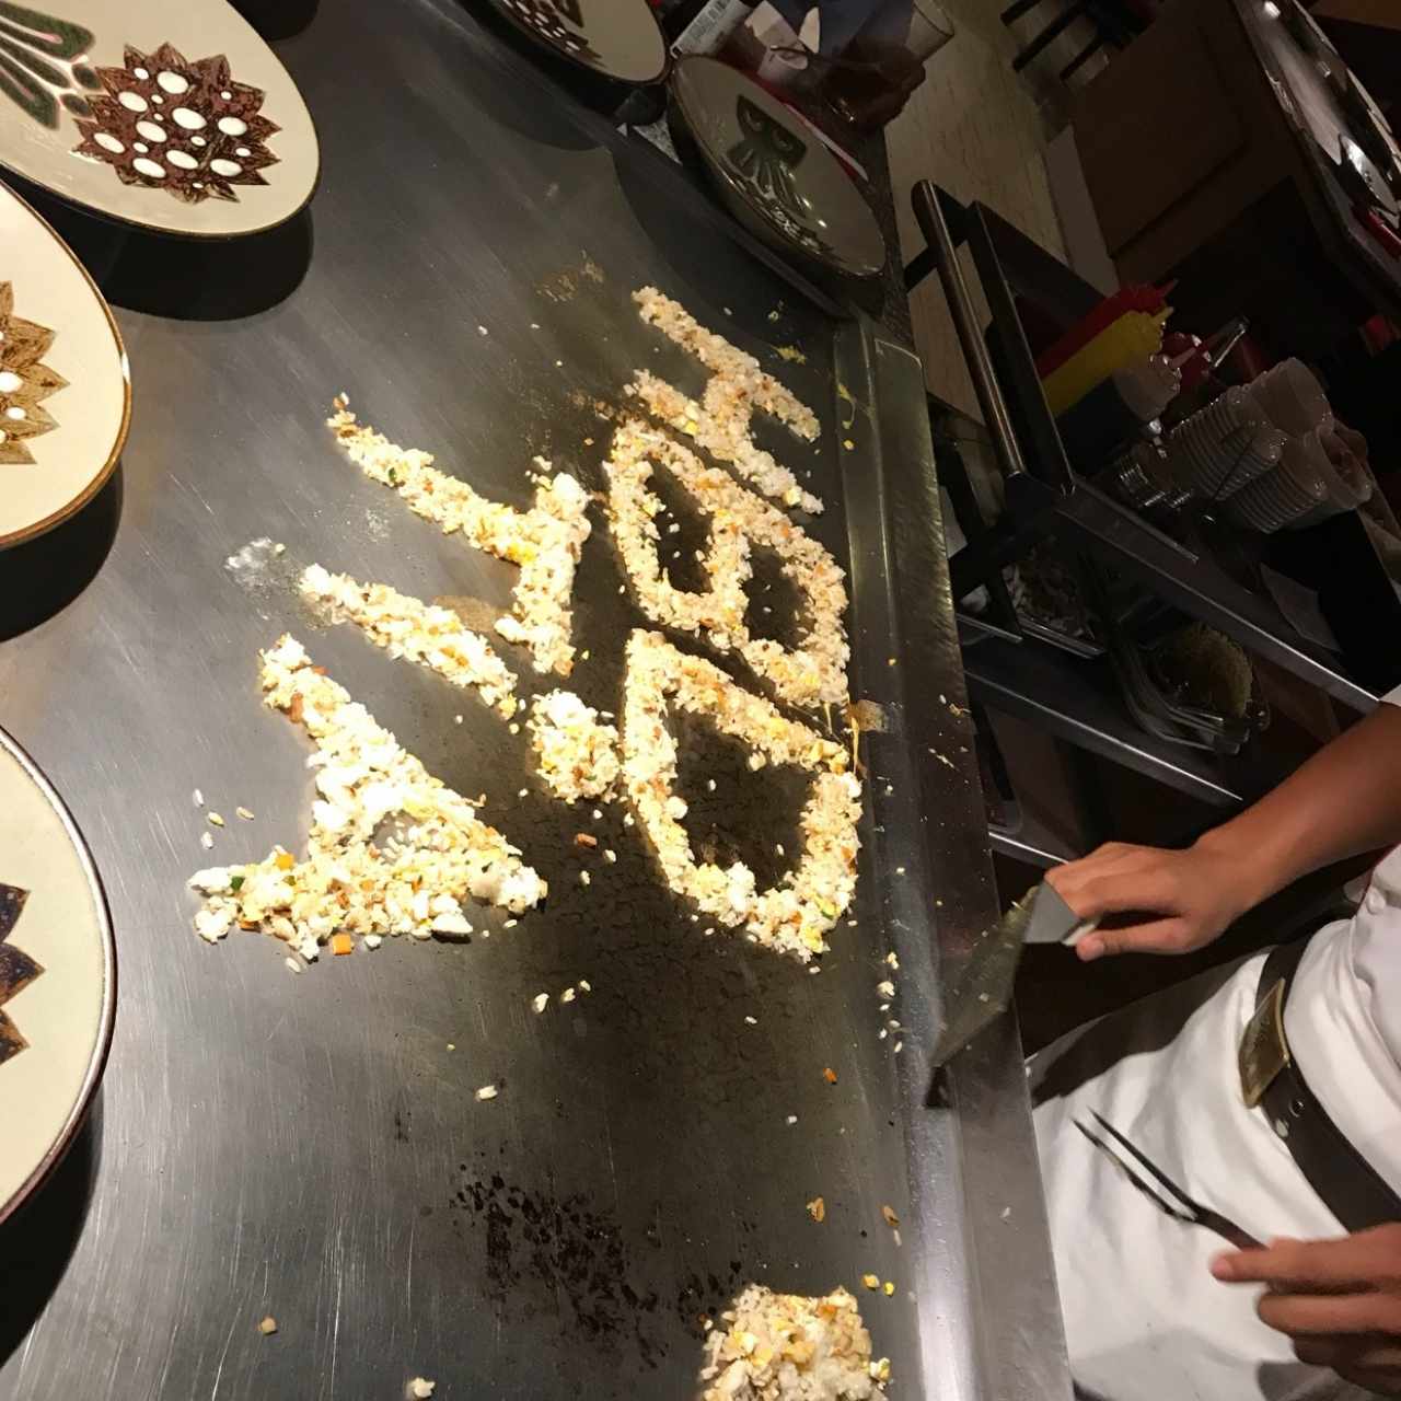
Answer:
[[[97,495],[130,412],[126,352],[102,293],[67,244],[0,185],[0,549]]]

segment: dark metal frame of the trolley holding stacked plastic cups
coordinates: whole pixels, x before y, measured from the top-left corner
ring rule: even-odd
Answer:
[[[1212,808],[1240,807],[1278,779],[1271,765],[1257,755],[1223,758],[1145,733],[1105,665],[1073,658],[1028,633],[1003,583],[1006,565],[1055,539],[1066,558],[1083,556],[1101,577],[1132,581],[1353,710],[1376,703],[1373,689],[1337,654],[1303,637],[1269,597],[1238,583],[1205,545],[1166,535],[1075,471],[1042,395],[1016,296],[1034,298],[1070,325],[1100,293],[982,205],[961,205],[929,182],[915,188],[913,205],[927,248],[908,265],[906,284],[939,272],[1003,475],[1005,510],[988,525],[974,503],[960,444],[941,439],[936,427],[940,481],[968,539],[950,559],[951,590],[955,600],[979,586],[989,594],[982,614],[958,611],[969,693]],[[957,258],[962,245],[992,314],[986,338]],[[1037,864],[1073,855],[1055,834],[993,825],[989,835],[995,849]]]

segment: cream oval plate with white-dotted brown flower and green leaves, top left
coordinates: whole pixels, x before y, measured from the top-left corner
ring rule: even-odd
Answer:
[[[171,234],[272,228],[321,153],[296,84],[224,0],[0,0],[0,165]]]

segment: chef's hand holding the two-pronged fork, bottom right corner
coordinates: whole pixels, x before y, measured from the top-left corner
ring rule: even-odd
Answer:
[[[1274,1240],[1212,1261],[1230,1283],[1269,1288],[1259,1317],[1293,1339],[1300,1362],[1401,1397],[1401,1222],[1342,1240]]]

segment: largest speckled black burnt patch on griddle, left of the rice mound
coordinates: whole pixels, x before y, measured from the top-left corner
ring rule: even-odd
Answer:
[[[577,1192],[556,1196],[467,1164],[451,1208],[483,1261],[493,1303],[527,1316],[556,1311],[572,1339],[630,1341],[646,1366],[658,1366],[667,1345],[650,1320],[661,1296],[611,1213]]]

